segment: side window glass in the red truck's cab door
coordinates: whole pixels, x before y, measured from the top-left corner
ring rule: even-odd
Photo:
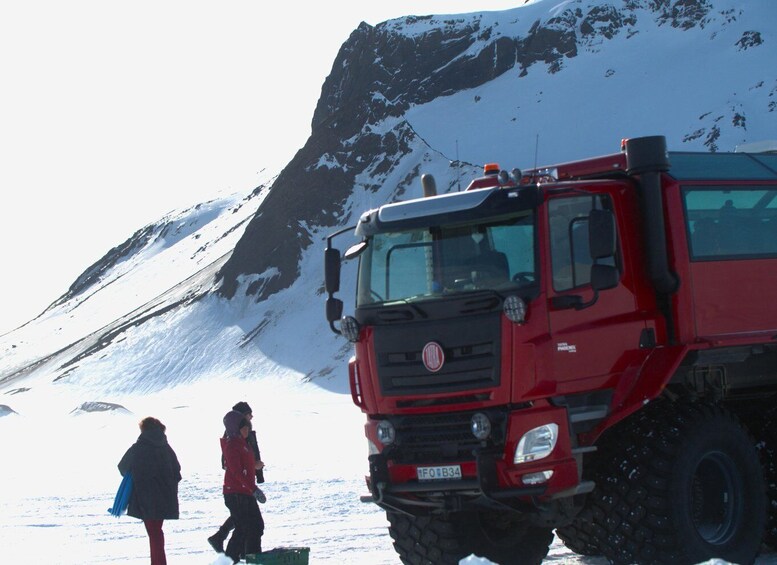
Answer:
[[[554,198],[548,202],[553,289],[565,291],[589,284],[593,260],[588,245],[588,215],[594,209],[611,209],[603,195]],[[600,260],[615,265],[615,258]]]

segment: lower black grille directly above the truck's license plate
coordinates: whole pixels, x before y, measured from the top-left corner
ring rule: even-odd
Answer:
[[[502,411],[484,411],[491,420],[491,438],[481,442],[472,435],[474,412],[454,412],[424,416],[394,416],[397,432],[389,457],[400,464],[438,464],[473,461],[478,449],[504,445],[507,420]]]

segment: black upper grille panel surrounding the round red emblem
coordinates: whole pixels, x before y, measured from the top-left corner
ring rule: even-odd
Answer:
[[[375,326],[375,353],[386,396],[461,392],[499,385],[500,313],[444,321]],[[437,372],[423,364],[430,341],[443,348]]]

